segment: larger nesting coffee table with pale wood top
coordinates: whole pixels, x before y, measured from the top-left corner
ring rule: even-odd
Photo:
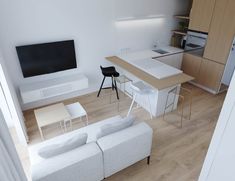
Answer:
[[[54,104],[34,110],[41,138],[44,139],[42,128],[54,123],[70,119],[70,114],[63,103]]]

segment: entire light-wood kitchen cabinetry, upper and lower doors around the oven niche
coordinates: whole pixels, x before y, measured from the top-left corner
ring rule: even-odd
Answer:
[[[182,69],[218,93],[235,36],[235,0],[193,0],[189,29],[208,32],[208,39],[203,57],[186,54]]]

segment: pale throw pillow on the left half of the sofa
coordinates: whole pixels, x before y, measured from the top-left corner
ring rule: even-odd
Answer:
[[[62,153],[78,148],[82,145],[85,145],[87,142],[87,137],[87,133],[80,133],[70,136],[67,139],[58,141],[58,143],[42,147],[38,150],[38,154],[42,158],[50,158],[56,155],[60,155]]]

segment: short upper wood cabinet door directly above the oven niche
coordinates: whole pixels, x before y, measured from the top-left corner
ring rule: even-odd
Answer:
[[[189,29],[209,32],[216,0],[193,0]]]

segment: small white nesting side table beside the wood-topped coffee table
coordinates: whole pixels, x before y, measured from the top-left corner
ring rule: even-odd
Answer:
[[[86,110],[82,107],[82,105],[79,102],[69,104],[65,106],[67,111],[70,114],[70,118],[65,120],[65,130],[67,130],[67,122],[70,123],[71,129],[73,128],[72,120],[80,118],[82,121],[82,117],[86,117],[86,125],[88,125],[88,115]]]

